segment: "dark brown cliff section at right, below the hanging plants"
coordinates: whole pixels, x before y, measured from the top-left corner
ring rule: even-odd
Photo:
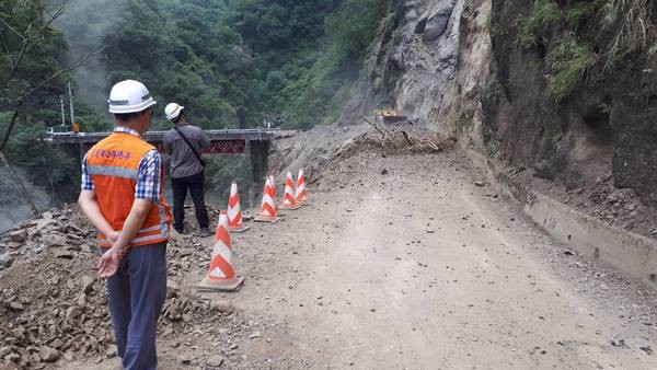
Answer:
[[[636,54],[606,70],[614,35],[598,30],[602,10],[596,9],[574,36],[578,45],[589,45],[591,67],[583,69],[581,81],[557,101],[550,94],[550,50],[565,37],[564,31],[549,26],[535,33],[535,46],[519,46],[522,30],[509,20],[527,18],[530,7],[507,0],[492,8],[492,88],[482,102],[500,154],[568,187],[611,174],[615,187],[631,188],[644,203],[657,205],[655,66]],[[567,5],[557,9],[573,12]],[[652,21],[655,24],[655,14]],[[591,33],[596,36],[587,44]]]

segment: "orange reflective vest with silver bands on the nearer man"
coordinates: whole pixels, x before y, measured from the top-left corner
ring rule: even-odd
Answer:
[[[93,181],[101,212],[114,230],[123,230],[135,201],[139,162],[153,149],[153,146],[135,135],[114,132],[93,146],[87,154],[87,171]],[[162,163],[160,165],[163,166]],[[163,167],[160,174],[160,200],[153,201],[143,226],[132,239],[132,246],[169,240],[171,212],[164,198]],[[102,233],[99,233],[99,242],[102,247],[112,246]]]

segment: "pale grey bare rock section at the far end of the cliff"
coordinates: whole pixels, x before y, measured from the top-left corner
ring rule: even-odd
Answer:
[[[347,114],[395,108],[430,122],[453,79],[463,0],[394,1],[394,18],[381,31],[369,61],[364,94]]]

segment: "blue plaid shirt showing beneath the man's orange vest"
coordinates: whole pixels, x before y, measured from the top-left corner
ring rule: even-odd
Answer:
[[[141,137],[139,132],[131,128],[117,126],[114,132],[125,132]],[[137,175],[137,186],[135,187],[136,199],[149,199],[153,201],[160,200],[161,189],[161,172],[162,172],[162,158],[158,150],[153,149],[146,153],[141,161],[139,161],[139,171]],[[89,174],[87,166],[87,155],[82,161],[82,190],[93,190],[93,178]]]

